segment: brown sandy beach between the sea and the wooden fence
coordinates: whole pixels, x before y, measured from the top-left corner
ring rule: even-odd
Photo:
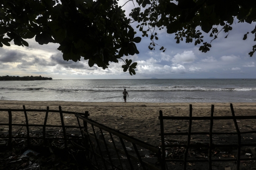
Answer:
[[[214,116],[231,116],[230,103],[145,103],[145,102],[61,102],[61,101],[0,101],[0,108],[6,109],[46,109],[58,110],[58,106],[62,106],[62,110],[75,111],[84,113],[89,111],[91,119],[102,123],[108,127],[119,129],[121,132],[134,136],[149,144],[159,146],[160,140],[160,121],[158,119],[159,110],[163,111],[164,116],[188,116],[189,104],[192,104],[193,116],[210,116],[211,104],[215,105]],[[256,115],[256,103],[233,103],[235,114],[238,115]],[[42,112],[28,112],[30,124],[43,124],[45,114]],[[8,112],[0,112],[0,123],[8,123]],[[24,123],[25,116],[23,112],[13,112],[13,123]],[[65,125],[77,125],[74,116],[64,114]],[[187,120],[165,120],[165,132],[176,132],[177,128],[180,132],[188,131]],[[58,113],[49,113],[48,125],[61,125],[60,115]],[[250,131],[256,129],[256,121],[254,119],[239,120],[238,126],[240,131]],[[2,126],[3,127],[3,126]],[[192,132],[205,131],[208,132],[210,121],[194,120],[192,122]],[[8,127],[5,127],[5,129]],[[13,131],[20,127],[13,127]],[[38,130],[37,127],[31,127],[31,130]],[[26,130],[26,128],[24,128]],[[6,130],[4,130],[6,131]],[[215,120],[213,131],[216,132],[234,132],[235,126],[233,120]],[[186,140],[187,136],[174,136],[175,140]],[[225,136],[224,136],[225,137]],[[230,136],[226,136],[227,140]],[[233,136],[236,137],[236,136]],[[255,135],[244,136],[244,141],[256,142]],[[208,137],[192,136],[192,140],[207,141]],[[232,141],[230,141],[232,142]],[[237,142],[237,140],[233,141]]]

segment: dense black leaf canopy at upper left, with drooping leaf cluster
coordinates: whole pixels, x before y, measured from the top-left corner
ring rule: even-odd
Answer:
[[[64,60],[88,59],[103,69],[123,55],[138,54],[135,37],[124,10],[116,0],[1,0],[0,47],[28,46],[35,37],[39,44],[60,44]],[[7,35],[7,37],[5,37]],[[135,74],[137,63],[126,60],[124,71]]]

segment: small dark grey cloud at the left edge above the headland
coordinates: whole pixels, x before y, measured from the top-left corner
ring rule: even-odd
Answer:
[[[0,55],[0,61],[2,63],[7,62],[20,62],[26,54],[17,51],[8,51]]]

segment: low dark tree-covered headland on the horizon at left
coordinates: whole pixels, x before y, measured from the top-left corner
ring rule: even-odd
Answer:
[[[0,81],[33,81],[33,80],[52,80],[52,77],[42,76],[0,76]]]

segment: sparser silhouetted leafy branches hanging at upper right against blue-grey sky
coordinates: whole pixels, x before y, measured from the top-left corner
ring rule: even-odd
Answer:
[[[139,7],[132,9],[129,14],[133,21],[138,23],[137,28],[142,36],[150,36],[150,50],[155,50],[155,41],[158,40],[155,28],[166,27],[168,34],[175,34],[176,43],[185,40],[186,43],[201,44],[199,50],[210,51],[211,42],[224,31],[225,38],[232,30],[234,22],[256,21],[256,0],[136,0]],[[198,29],[198,28],[201,29]],[[201,31],[210,33],[210,43],[204,42]],[[247,39],[248,32],[243,40]],[[251,31],[255,34],[256,28]],[[165,51],[162,46],[160,50]],[[256,45],[249,52],[252,57]]]

